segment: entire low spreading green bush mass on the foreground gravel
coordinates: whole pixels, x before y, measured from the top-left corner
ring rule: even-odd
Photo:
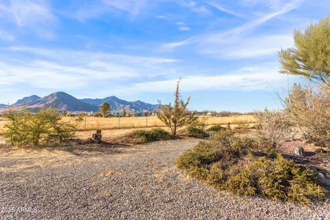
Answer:
[[[303,204],[325,197],[325,189],[311,170],[281,155],[260,156],[259,144],[259,140],[225,130],[212,135],[210,141],[199,142],[180,155],[175,164],[214,188],[239,195]]]

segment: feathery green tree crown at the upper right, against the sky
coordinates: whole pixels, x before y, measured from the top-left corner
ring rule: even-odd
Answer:
[[[330,20],[311,24],[305,32],[294,31],[295,47],[278,53],[281,73],[305,76],[322,85],[330,85]]]

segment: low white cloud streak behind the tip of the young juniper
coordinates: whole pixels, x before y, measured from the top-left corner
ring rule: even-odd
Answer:
[[[181,91],[269,91],[285,85],[287,76],[278,74],[277,65],[242,67],[228,74],[216,76],[186,76],[181,78]],[[130,87],[115,89],[118,93],[170,93],[175,89],[177,78],[146,83],[135,83]]]

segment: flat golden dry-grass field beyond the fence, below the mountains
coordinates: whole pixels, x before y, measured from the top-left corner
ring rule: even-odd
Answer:
[[[207,125],[212,124],[237,124],[239,122],[247,122],[249,124],[254,123],[254,115],[234,115],[229,117],[211,117],[200,116],[201,120],[204,120]],[[65,117],[65,121],[74,122],[76,118]],[[5,119],[0,118],[0,134],[3,133],[3,126]],[[148,117],[122,117],[122,118],[96,118],[86,117],[83,121],[78,122],[78,130],[91,131],[96,129],[133,129],[133,128],[147,128],[147,127],[161,127],[164,123],[160,121],[156,116]]]

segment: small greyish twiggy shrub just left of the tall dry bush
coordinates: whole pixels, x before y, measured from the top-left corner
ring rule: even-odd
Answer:
[[[256,112],[256,129],[273,147],[285,142],[292,134],[292,124],[284,111]]]

